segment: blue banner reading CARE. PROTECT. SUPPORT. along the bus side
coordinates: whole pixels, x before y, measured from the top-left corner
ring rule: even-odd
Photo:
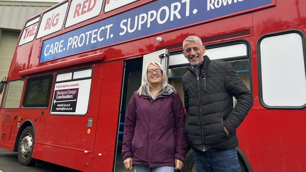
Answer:
[[[40,62],[269,4],[271,0],[154,1],[45,40]]]

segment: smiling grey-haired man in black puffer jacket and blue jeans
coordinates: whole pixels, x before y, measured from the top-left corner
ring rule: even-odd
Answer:
[[[183,77],[185,133],[197,172],[241,171],[236,128],[251,109],[253,95],[229,63],[203,56],[206,49],[199,37],[188,36],[183,49],[190,63]]]

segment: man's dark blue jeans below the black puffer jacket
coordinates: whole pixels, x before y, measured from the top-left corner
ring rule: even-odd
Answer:
[[[236,148],[219,151],[196,152],[197,172],[241,172]]]

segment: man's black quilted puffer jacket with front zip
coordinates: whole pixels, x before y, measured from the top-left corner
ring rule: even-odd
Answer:
[[[236,128],[251,109],[253,95],[225,61],[211,61],[205,55],[198,73],[189,65],[183,77],[185,133],[190,146],[195,151],[235,148]],[[233,96],[237,99],[235,108]],[[224,127],[229,129],[229,137]]]

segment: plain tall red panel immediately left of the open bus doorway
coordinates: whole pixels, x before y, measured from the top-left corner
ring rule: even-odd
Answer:
[[[123,61],[105,64],[92,171],[113,171],[122,75]]]

